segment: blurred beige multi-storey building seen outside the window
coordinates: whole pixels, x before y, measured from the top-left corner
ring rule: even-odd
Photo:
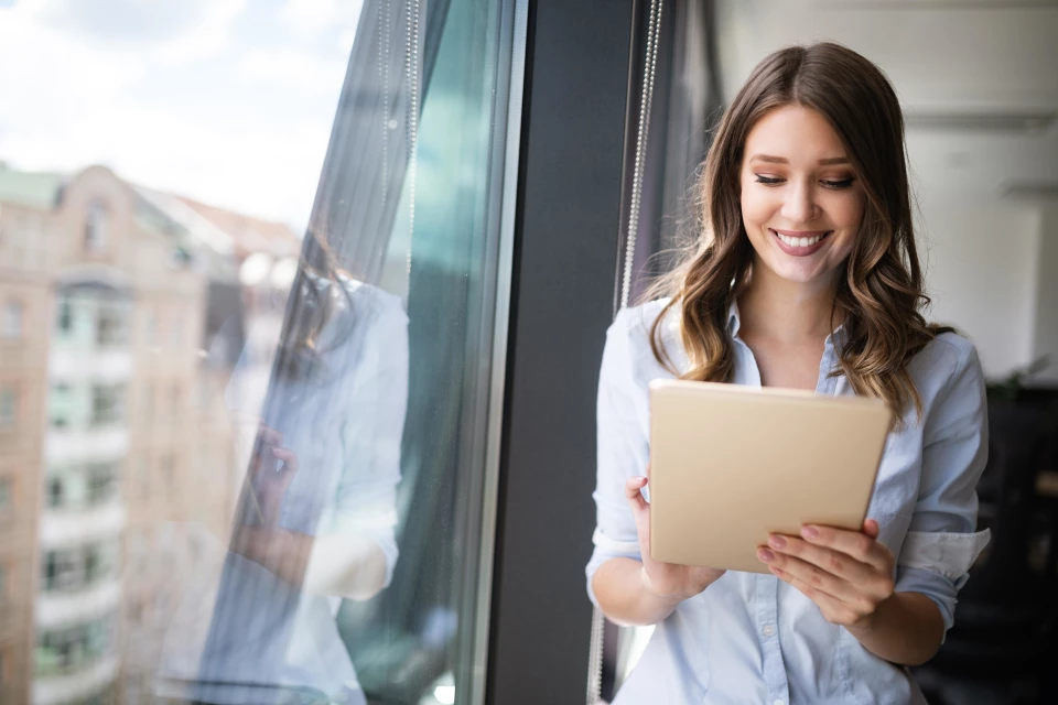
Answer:
[[[300,243],[277,226],[247,288],[261,228],[225,217],[101,166],[0,165],[0,703],[149,699],[177,578],[229,531],[223,391],[247,330],[278,337]]]

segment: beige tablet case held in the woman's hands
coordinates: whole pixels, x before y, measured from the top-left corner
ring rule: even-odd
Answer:
[[[805,523],[860,530],[885,438],[877,399],[650,383],[650,554],[768,573],[757,547]]]

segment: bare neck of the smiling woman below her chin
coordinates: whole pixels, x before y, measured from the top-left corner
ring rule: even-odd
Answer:
[[[841,323],[834,312],[834,295],[833,282],[791,282],[756,260],[749,282],[738,296],[741,327],[784,343],[824,339]]]

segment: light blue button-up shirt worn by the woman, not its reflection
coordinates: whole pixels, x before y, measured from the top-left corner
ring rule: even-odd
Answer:
[[[625,481],[646,475],[650,456],[647,386],[671,378],[650,349],[650,325],[663,302],[622,311],[606,336],[598,389],[598,478],[592,576],[604,562],[640,560]],[[661,325],[661,340],[677,369],[685,369],[677,311]],[[738,337],[732,306],[734,382],[760,386],[753,352]],[[816,391],[852,395],[838,366],[842,329],[828,336]],[[975,487],[987,456],[984,380],[973,345],[947,333],[908,364],[922,399],[903,429],[889,434],[867,516],[897,556],[897,592],[932,599],[950,628],[956,594],[987,532],[974,533]],[[709,430],[704,429],[708,433]],[[647,488],[649,489],[649,488]],[[647,494],[647,499],[649,496]],[[657,625],[615,705],[638,703],[925,703],[906,670],[878,659],[843,627],[774,575],[728,571],[704,593],[683,601]]]

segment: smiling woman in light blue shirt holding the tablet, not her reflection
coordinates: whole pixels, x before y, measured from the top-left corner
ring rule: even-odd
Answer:
[[[925,702],[930,659],[987,542],[973,346],[928,325],[904,124],[885,76],[831,43],[765,58],[727,108],[699,184],[702,237],[668,299],[623,311],[598,397],[589,593],[657,625],[620,703]],[[862,532],[771,536],[771,575],[649,555],[651,379],[884,399],[896,422]],[[703,429],[708,433],[708,429]]]

